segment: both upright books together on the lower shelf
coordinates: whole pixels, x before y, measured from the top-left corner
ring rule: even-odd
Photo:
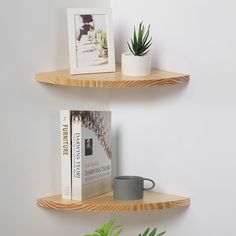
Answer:
[[[111,112],[60,111],[62,198],[111,191]]]

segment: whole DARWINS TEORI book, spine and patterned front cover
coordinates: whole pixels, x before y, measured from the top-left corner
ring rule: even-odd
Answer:
[[[111,112],[70,111],[72,199],[111,191]]]

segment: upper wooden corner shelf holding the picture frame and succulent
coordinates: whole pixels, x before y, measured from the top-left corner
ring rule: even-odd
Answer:
[[[59,70],[37,74],[36,80],[86,88],[142,88],[184,84],[189,81],[189,75],[152,70],[150,75],[144,77],[125,76],[121,73],[120,65],[117,65],[117,71],[112,73],[71,75],[69,70]]]

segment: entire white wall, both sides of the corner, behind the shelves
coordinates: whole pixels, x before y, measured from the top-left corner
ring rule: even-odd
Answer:
[[[234,235],[235,2],[112,1],[117,57],[132,25],[144,20],[152,24],[153,66],[191,74],[187,87],[96,90],[37,83],[36,72],[68,66],[65,8],[103,6],[109,2],[0,2],[0,235],[81,236],[111,216],[35,204],[60,191],[63,108],[110,108],[119,173],[154,178],[157,190],[192,197],[188,209],[117,214],[126,235],[147,224],[169,236]]]

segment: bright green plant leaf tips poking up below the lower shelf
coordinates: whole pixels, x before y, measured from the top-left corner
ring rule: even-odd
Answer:
[[[105,224],[98,227],[94,232],[86,234],[85,236],[121,236],[122,231],[123,228],[121,225],[115,225],[115,219],[111,218]],[[147,228],[144,233],[140,233],[138,236],[162,236],[165,233],[166,231],[158,233],[157,228],[155,227],[153,230]]]

